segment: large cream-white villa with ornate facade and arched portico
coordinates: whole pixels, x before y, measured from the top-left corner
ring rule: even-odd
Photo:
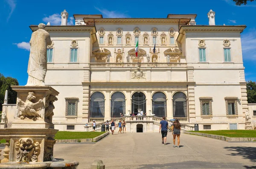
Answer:
[[[92,120],[136,115],[138,109],[147,116],[199,124],[199,130],[245,128],[240,37],[245,25],[215,25],[212,10],[209,25],[196,25],[196,14],[73,16],[75,25],[67,25],[63,11],[61,25],[46,27],[52,39],[46,84],[60,93],[53,116],[56,129],[84,131]],[[140,124],[150,125],[152,118],[145,119]],[[128,123],[128,131],[136,132],[139,123]],[[155,130],[145,127],[143,132]]]

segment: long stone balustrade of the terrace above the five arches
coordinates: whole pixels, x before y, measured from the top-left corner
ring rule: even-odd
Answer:
[[[90,63],[91,68],[186,67],[186,63]]]

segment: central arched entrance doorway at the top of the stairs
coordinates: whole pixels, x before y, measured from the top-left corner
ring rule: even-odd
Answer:
[[[142,92],[136,92],[131,97],[131,113],[138,114],[141,109],[142,114],[146,113],[146,96]]]

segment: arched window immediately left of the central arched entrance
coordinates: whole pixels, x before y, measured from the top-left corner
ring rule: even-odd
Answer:
[[[125,95],[122,92],[115,92],[111,96],[111,117],[125,115]]]

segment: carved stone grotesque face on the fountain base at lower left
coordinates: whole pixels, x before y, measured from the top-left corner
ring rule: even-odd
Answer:
[[[37,162],[40,154],[39,142],[34,142],[32,138],[20,138],[15,143],[17,151],[16,162]]]

